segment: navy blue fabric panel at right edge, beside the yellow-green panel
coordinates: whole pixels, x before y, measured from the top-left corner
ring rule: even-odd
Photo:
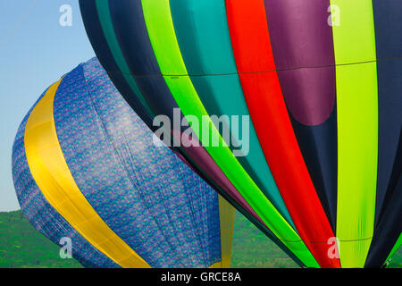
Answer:
[[[394,202],[402,201],[402,190],[398,189],[402,176],[402,5],[398,0],[373,1],[373,14],[378,59],[379,146],[375,229],[370,252],[372,248],[376,251],[375,255],[369,252],[366,264],[381,266],[389,248],[398,238],[400,241],[402,232],[398,219],[402,206]]]

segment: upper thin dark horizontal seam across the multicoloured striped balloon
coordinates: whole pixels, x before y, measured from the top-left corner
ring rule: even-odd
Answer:
[[[322,69],[322,68],[331,68],[338,66],[348,66],[348,65],[356,65],[356,64],[364,64],[364,63],[381,63],[388,62],[394,60],[402,60],[402,56],[392,57],[387,59],[377,59],[373,61],[365,61],[365,62],[356,62],[356,63],[339,63],[339,64],[329,64],[329,65],[314,65],[314,66],[301,66],[289,69],[275,69],[275,70],[267,70],[267,71],[243,71],[243,72],[228,72],[228,73],[211,73],[211,74],[135,74],[133,72],[123,72],[123,71],[109,71],[110,73],[121,73],[128,74],[138,78],[150,78],[150,77],[207,77],[207,76],[223,76],[223,75],[240,75],[240,74],[254,74],[254,73],[265,73],[265,72],[275,72],[275,71],[297,71],[303,69]]]

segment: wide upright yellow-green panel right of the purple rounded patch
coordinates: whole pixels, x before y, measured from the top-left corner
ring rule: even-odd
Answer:
[[[339,146],[337,237],[342,266],[362,267],[373,238],[377,176],[378,95],[373,4],[341,0],[331,4],[338,5],[342,11],[342,24],[332,27]]]

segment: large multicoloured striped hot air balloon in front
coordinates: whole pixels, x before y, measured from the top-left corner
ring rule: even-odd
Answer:
[[[210,119],[193,130],[204,151],[175,149],[300,265],[380,267],[398,249],[400,1],[81,0],[80,10],[151,129],[177,107]],[[250,117],[245,156],[214,115]],[[224,142],[208,146],[203,132]]]

